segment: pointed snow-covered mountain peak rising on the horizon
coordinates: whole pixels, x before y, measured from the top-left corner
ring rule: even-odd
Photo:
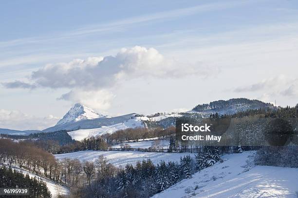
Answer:
[[[61,120],[59,120],[56,124],[62,125],[65,123],[75,123],[80,120],[86,120],[86,119],[95,119],[95,118],[102,118],[105,117],[105,115],[102,115],[100,113],[96,113],[93,109],[88,108],[84,105],[81,105],[79,103],[76,103],[74,107],[72,107]]]

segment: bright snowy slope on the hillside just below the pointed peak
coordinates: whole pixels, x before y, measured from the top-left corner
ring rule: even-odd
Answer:
[[[125,122],[118,123],[111,126],[102,126],[100,128],[92,128],[92,129],[80,129],[75,131],[70,131],[68,134],[75,140],[80,141],[85,138],[89,138],[92,136],[103,135],[105,133],[113,133],[117,130],[123,130],[127,128],[136,128],[136,127],[144,127],[143,121],[141,121],[140,117],[135,117],[129,119]]]

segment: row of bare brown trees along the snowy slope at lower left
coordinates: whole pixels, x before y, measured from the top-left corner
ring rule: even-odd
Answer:
[[[13,142],[0,139],[0,163],[17,165],[36,175],[47,177],[58,183],[77,186],[83,164],[79,160],[64,159],[58,161],[54,155],[30,142]]]

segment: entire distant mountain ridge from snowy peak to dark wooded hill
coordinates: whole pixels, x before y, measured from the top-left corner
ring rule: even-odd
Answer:
[[[229,100],[217,100],[210,102],[208,104],[200,104],[192,108],[192,110],[184,112],[184,114],[191,115],[192,113],[198,113],[202,117],[209,117],[212,113],[219,114],[234,114],[239,111],[245,111],[248,109],[257,108],[275,108],[274,105],[270,103],[264,103],[260,100],[250,100],[247,98],[232,98]],[[181,113],[179,113],[181,114]],[[141,116],[141,117],[140,117]],[[177,115],[176,115],[177,116]],[[135,120],[135,117],[140,117],[140,119]],[[175,116],[160,115],[158,117],[147,117],[144,115],[139,115],[136,113],[130,113],[126,115],[109,117],[95,112],[93,109],[83,106],[79,103],[75,104],[74,107],[63,116],[61,120],[57,122],[55,126],[48,127],[42,131],[19,131],[10,129],[0,129],[4,134],[19,134],[28,135],[32,132],[53,132],[58,130],[78,130],[78,129],[94,129],[103,126],[112,126],[115,124],[121,124],[134,119],[137,122],[145,123],[145,127],[148,125],[160,124],[161,126],[173,125],[173,119]],[[160,119],[160,120],[159,120]],[[132,120],[132,121],[134,121]]]

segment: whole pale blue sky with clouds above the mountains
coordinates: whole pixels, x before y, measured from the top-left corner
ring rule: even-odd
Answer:
[[[0,128],[53,126],[77,102],[110,116],[298,103],[296,0],[7,0],[0,24]]]

